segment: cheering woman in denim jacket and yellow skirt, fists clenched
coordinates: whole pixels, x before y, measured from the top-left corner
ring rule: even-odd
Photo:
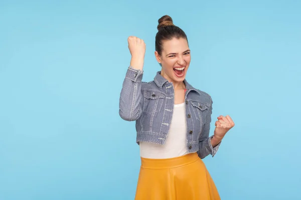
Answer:
[[[123,81],[119,114],[136,121],[141,167],[135,199],[220,199],[201,158],[215,155],[234,126],[220,115],[209,137],[212,98],[185,79],[191,56],[185,32],[170,16],[159,19],[154,80],[142,82],[145,44],[128,37],[130,66]]]

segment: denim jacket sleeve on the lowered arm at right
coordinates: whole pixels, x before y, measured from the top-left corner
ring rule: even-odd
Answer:
[[[211,138],[213,137],[213,135],[209,137],[211,114],[212,114],[212,104],[213,104],[213,101],[210,96],[210,107],[208,108],[208,113],[206,115],[206,123],[203,127],[202,135],[199,139],[199,157],[200,158],[204,158],[209,154],[211,154],[213,157],[216,154],[216,152],[221,144],[221,142],[220,142],[217,146],[215,146],[213,148],[211,145]]]

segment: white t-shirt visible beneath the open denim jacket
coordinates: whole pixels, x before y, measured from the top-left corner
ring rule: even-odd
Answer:
[[[172,122],[165,145],[140,141],[140,156],[145,158],[171,158],[185,155],[187,153],[185,116],[185,102],[174,104]]]

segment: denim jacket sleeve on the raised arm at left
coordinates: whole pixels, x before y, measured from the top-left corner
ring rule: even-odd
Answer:
[[[127,68],[119,98],[119,115],[124,120],[134,121],[141,115],[143,103],[142,76],[143,70],[131,66]]]

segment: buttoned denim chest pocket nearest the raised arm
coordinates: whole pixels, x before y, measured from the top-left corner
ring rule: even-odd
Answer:
[[[144,96],[143,111],[154,113],[161,110],[165,95],[159,91],[142,91]]]

